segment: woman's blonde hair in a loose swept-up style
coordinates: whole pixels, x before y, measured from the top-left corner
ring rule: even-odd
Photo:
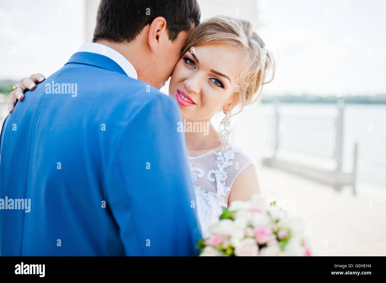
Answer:
[[[266,51],[264,42],[252,30],[252,24],[246,20],[227,16],[209,18],[190,33],[182,55],[188,50],[192,52],[194,50],[192,47],[209,43],[230,44],[244,53],[232,107],[240,104],[241,111],[245,105],[258,100],[261,97],[262,86],[273,80],[274,60]],[[271,78],[266,81],[267,73],[271,73]],[[256,99],[252,99],[255,94]]]

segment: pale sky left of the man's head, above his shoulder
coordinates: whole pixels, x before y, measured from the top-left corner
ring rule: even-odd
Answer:
[[[85,38],[83,0],[0,0],[0,79],[48,76]]]

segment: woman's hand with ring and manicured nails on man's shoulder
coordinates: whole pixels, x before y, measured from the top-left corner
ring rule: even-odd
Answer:
[[[29,78],[21,79],[19,84],[14,86],[14,90],[10,93],[10,99],[8,102],[8,113],[11,114],[14,111],[17,100],[22,101],[24,99],[24,92],[27,90],[34,90],[37,84],[44,81],[46,77],[42,74],[33,74]]]

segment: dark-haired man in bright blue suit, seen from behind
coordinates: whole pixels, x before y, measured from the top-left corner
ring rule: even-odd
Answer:
[[[19,97],[0,137],[0,255],[195,255],[181,116],[156,87],[199,21],[195,0],[102,0],[93,43]]]

